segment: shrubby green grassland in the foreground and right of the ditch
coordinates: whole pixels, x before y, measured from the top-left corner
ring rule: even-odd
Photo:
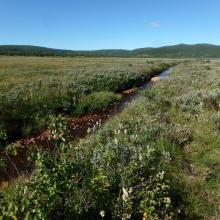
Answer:
[[[87,60],[88,69],[95,60]],[[114,65],[101,60],[94,64],[100,72],[103,65],[139,74],[146,67],[142,59],[113,59]],[[77,142],[63,138],[65,119],[51,118],[56,148],[52,154],[40,148],[33,152],[34,172],[2,190],[0,216],[219,219],[219,76],[219,61],[179,64],[168,79]]]

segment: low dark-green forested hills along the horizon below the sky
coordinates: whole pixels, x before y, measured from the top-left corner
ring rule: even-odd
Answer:
[[[0,55],[21,56],[114,56],[152,58],[220,58],[220,46],[212,44],[179,44],[135,50],[73,51],[26,45],[0,45]]]

